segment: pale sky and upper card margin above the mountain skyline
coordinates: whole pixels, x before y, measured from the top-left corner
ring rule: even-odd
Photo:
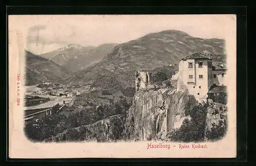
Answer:
[[[121,44],[164,30],[179,30],[199,38],[225,39],[234,26],[236,15],[9,16],[9,31],[22,33],[25,49],[35,54],[50,52],[68,44]]]

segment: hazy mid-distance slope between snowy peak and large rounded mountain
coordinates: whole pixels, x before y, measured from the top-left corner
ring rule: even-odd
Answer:
[[[73,72],[84,69],[102,60],[104,55],[114,48],[117,44],[102,44],[97,47],[91,48],[84,51],[76,56],[73,56],[69,61],[67,61],[63,66],[70,69]],[[54,57],[55,59],[56,57]]]

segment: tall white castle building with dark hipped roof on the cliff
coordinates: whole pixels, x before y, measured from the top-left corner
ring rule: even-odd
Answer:
[[[217,67],[221,62],[212,62],[202,53],[193,53],[179,63],[177,90],[188,90],[197,100],[206,99],[212,86],[226,85],[226,68]],[[217,66],[216,66],[217,65]]]

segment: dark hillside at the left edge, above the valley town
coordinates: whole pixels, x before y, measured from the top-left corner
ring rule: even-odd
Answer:
[[[26,54],[26,86],[39,84],[47,80],[65,79],[71,76],[71,72],[54,62],[36,56],[32,52],[25,50]]]

